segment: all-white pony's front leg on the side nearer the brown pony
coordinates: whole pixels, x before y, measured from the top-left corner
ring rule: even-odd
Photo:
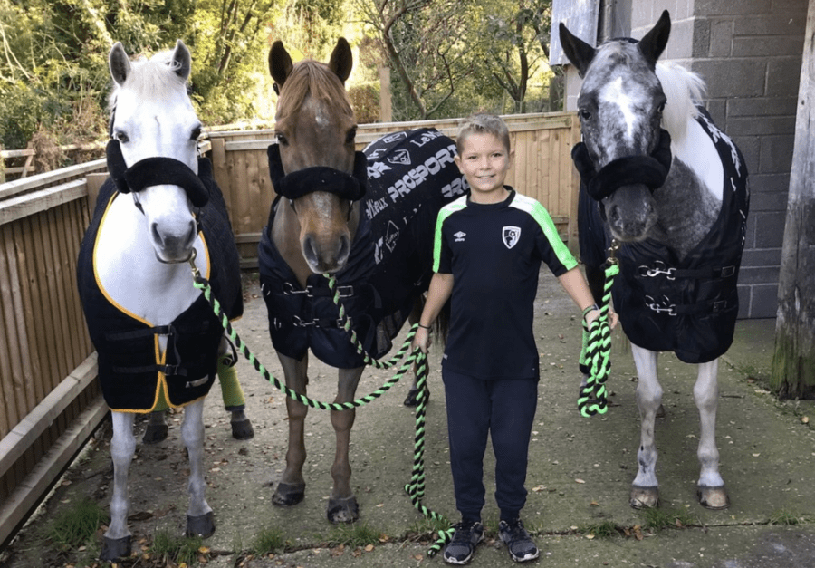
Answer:
[[[212,508],[206,503],[204,493],[204,399],[184,407],[181,438],[189,456],[189,509],[187,510],[187,536],[206,538],[215,533]]]

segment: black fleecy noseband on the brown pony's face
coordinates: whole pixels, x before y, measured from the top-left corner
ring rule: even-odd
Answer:
[[[269,157],[269,177],[277,195],[296,199],[312,191],[328,191],[343,199],[358,201],[365,195],[368,182],[368,158],[362,152],[354,155],[354,172],[324,166],[300,169],[286,174],[280,159],[280,146],[270,144],[266,150]]]

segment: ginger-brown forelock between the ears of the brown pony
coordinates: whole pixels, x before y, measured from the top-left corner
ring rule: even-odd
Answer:
[[[309,95],[319,97],[341,114],[354,115],[348,93],[337,75],[325,63],[306,59],[294,65],[283,84],[277,101],[277,120],[299,111]]]

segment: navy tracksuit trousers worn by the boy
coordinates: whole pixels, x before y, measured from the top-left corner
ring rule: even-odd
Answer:
[[[538,379],[481,380],[442,365],[455,508],[480,520],[484,507],[487,436],[495,454],[495,502],[502,520],[518,518],[526,503],[526,466]]]

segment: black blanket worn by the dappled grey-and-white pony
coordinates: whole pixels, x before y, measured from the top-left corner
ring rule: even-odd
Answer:
[[[620,274],[611,290],[628,339],[650,351],[674,351],[680,361],[701,363],[723,355],[733,342],[739,296],[736,284],[749,208],[747,168],[733,141],[705,109],[698,122],[714,141],[724,166],[722,210],[710,232],[679,260],[653,239],[621,245]],[[580,256],[597,267],[609,236],[598,202],[580,184]]]

